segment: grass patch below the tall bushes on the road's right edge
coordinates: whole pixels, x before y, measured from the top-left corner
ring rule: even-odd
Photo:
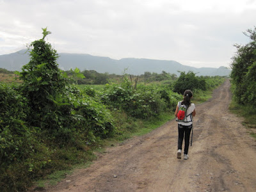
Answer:
[[[251,106],[252,107],[252,106]],[[248,129],[248,133],[256,140],[256,110],[248,106],[237,104],[234,99],[230,103],[229,109],[237,116],[244,118],[243,125]]]

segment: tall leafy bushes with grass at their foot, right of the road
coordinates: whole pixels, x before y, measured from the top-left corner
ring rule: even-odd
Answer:
[[[237,51],[231,63],[234,97],[230,110],[244,117],[244,125],[256,138],[256,28],[248,29],[244,35],[250,38],[250,42],[234,45]]]

